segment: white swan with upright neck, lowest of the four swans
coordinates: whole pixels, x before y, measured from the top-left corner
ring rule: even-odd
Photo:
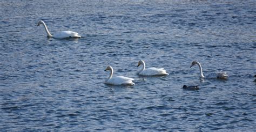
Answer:
[[[111,66],[107,67],[105,71],[110,70],[110,76],[109,78],[106,79],[105,83],[106,84],[111,84],[111,85],[134,85],[132,82],[132,78],[129,77],[124,77],[124,76],[117,76],[117,77],[112,77],[113,76],[113,68]]]

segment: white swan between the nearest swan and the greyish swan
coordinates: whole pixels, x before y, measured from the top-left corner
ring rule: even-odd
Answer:
[[[143,60],[139,61],[137,67],[139,67],[140,64],[143,64],[143,68],[142,68],[142,70],[140,70],[138,72],[139,75],[143,75],[143,76],[169,75],[169,74],[166,73],[164,68],[148,68],[148,69],[145,69],[146,64],[145,64],[145,62]]]

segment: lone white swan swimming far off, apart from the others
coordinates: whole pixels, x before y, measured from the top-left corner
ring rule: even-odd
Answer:
[[[64,38],[81,38],[80,35],[78,35],[78,33],[76,32],[72,32],[72,31],[62,31],[62,32],[57,32],[54,35],[51,35],[51,33],[49,32],[47,26],[45,25],[44,21],[40,20],[37,24],[37,26],[39,26],[40,24],[44,25],[45,31],[47,33],[47,35],[51,38],[55,38],[55,39],[64,39]]]

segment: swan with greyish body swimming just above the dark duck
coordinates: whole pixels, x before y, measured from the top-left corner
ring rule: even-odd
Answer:
[[[200,69],[200,77],[201,78],[205,78],[205,79],[211,79],[211,78],[220,78],[220,79],[227,79],[228,75],[227,75],[227,72],[225,71],[217,71],[217,72],[212,72],[211,74],[208,74],[206,76],[203,75],[203,69],[201,67],[201,64],[197,61],[193,61],[191,63],[191,67],[193,67],[194,65],[198,65],[199,66],[199,69]]]

